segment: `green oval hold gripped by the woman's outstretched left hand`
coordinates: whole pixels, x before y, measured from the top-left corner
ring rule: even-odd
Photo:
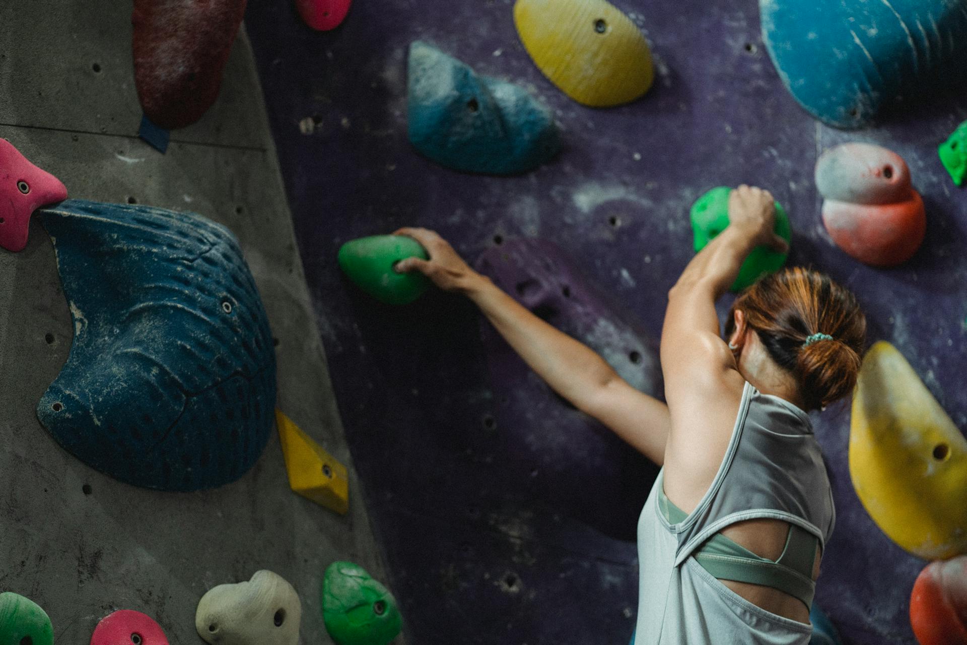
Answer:
[[[426,249],[405,235],[373,235],[351,240],[339,249],[339,267],[376,300],[406,305],[423,295],[429,280],[417,273],[396,273],[396,263],[407,257],[427,259]]]

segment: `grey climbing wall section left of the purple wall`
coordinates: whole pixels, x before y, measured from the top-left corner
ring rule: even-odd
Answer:
[[[236,233],[272,327],[278,405],[349,466],[349,513],[289,490],[275,430],[241,480],[196,493],[121,484],[61,449],[36,406],[67,360],[73,326],[35,217],[26,249],[0,250],[0,591],[41,604],[57,643],[88,642],[119,608],[154,617],[172,643],[200,643],[201,596],[269,569],[301,596],[302,642],[330,643],[319,600],[326,567],[349,559],[385,572],[343,438],[249,41],[243,33],[233,47],[219,101],[174,132],[162,156],[134,136],[141,110],[131,15],[131,2],[108,0],[0,5],[0,136],[73,197],[195,211]]]

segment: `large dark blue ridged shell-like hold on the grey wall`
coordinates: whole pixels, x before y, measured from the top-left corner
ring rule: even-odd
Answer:
[[[192,213],[71,199],[41,210],[73,317],[37,417],[122,482],[233,482],[265,448],[276,357],[235,236]]]

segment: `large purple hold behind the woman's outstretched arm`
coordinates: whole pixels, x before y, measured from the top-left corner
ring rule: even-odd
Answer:
[[[631,387],[661,396],[657,343],[639,316],[601,293],[562,249],[541,239],[505,239],[475,266],[525,308],[601,354]],[[501,481],[608,537],[634,540],[658,468],[554,394],[485,320],[481,336],[493,393],[484,431],[494,438],[487,443],[498,451],[492,456],[502,464]]]

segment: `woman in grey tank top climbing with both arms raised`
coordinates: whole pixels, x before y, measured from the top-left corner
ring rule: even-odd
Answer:
[[[748,253],[785,248],[769,192],[732,191],[729,220],[668,293],[666,403],[518,305],[435,233],[397,231],[429,253],[397,271],[465,294],[558,394],[662,465],[638,520],[637,645],[807,643],[833,532],[832,491],[806,411],[853,391],[864,314],[832,279],[786,269],[738,296],[723,340],[715,303]]]

